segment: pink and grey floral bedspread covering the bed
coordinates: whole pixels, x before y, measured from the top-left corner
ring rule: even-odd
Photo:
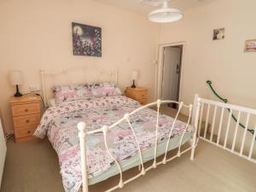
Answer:
[[[86,123],[88,131],[112,125],[125,113],[130,113],[140,104],[125,96],[107,96],[93,100],[62,103],[46,110],[34,135],[49,137],[61,166],[61,176],[66,192],[78,192],[82,183],[77,124]],[[170,134],[173,119],[160,114],[158,142],[165,141]],[[144,150],[154,145],[156,112],[145,108],[131,115],[131,125],[136,131],[140,147]],[[172,137],[183,133],[185,123],[176,122]],[[188,131],[192,131],[189,126]],[[96,177],[113,166],[113,160],[104,146],[102,133],[86,138],[89,177]],[[108,131],[108,147],[119,161],[137,154],[135,137],[130,126],[123,122]]]

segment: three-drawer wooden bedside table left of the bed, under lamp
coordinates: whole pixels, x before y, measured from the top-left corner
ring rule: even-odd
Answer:
[[[41,119],[40,96],[11,96],[9,102],[15,128],[15,142],[32,140]]]

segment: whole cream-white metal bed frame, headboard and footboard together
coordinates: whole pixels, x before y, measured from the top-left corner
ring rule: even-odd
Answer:
[[[90,70],[88,70],[87,67],[72,67],[72,68],[68,68],[68,69],[63,69],[59,72],[49,72],[49,71],[45,71],[44,69],[41,69],[40,70],[40,73],[41,73],[41,83],[42,83],[42,95],[43,95],[43,99],[44,99],[44,105],[47,106],[47,100],[49,99],[47,94],[46,94],[46,90],[47,90],[47,86],[46,86],[46,82],[45,82],[45,79],[46,78],[51,78],[52,80],[55,79],[55,76],[59,76],[59,75],[64,75],[66,79],[68,79],[69,81],[71,80],[70,77],[68,76],[68,74],[72,71],[76,71],[76,70],[79,70],[79,71],[83,71],[83,75],[84,75],[84,82],[80,82],[80,83],[87,83],[87,76],[89,76],[88,73],[90,73]],[[97,69],[93,69],[93,71],[97,71],[98,72],[98,76],[96,77],[96,79],[94,79],[94,82],[101,82],[102,81],[102,75],[103,73],[107,73],[108,74],[108,80],[109,82],[114,82],[115,84],[118,84],[118,77],[119,77],[119,72],[118,72],[118,69],[114,69],[114,70],[97,70]],[[112,81],[113,80],[113,81]],[[106,81],[106,79],[104,79],[103,81]],[[74,84],[73,82],[71,82],[72,84]],[[55,84],[54,84],[55,85]],[[95,133],[98,133],[98,132],[102,132],[103,133],[103,136],[104,136],[104,141],[105,141],[105,147],[107,148],[108,150],[108,154],[111,156],[111,158],[114,160],[114,162],[116,163],[116,165],[119,167],[119,174],[120,174],[120,179],[119,179],[119,184],[115,187],[113,187],[112,189],[108,189],[106,192],[110,192],[110,191],[113,191],[114,189],[118,189],[118,188],[122,188],[126,183],[130,183],[131,181],[135,180],[137,177],[140,177],[140,176],[143,176],[146,174],[146,172],[148,172],[149,170],[151,170],[152,168],[156,168],[157,166],[159,166],[160,164],[166,164],[166,162],[170,161],[170,160],[173,160],[177,157],[180,157],[182,154],[188,152],[189,150],[191,150],[191,157],[190,159],[191,160],[194,160],[194,154],[195,154],[195,146],[196,146],[196,143],[197,143],[197,140],[196,140],[196,129],[197,129],[197,124],[198,124],[198,119],[199,119],[199,108],[200,108],[200,102],[199,102],[200,98],[198,98],[198,96],[195,96],[195,106],[197,106],[196,108],[192,108],[193,106],[192,105],[185,105],[183,104],[183,102],[175,102],[175,101],[160,101],[158,100],[157,102],[152,102],[152,103],[149,103],[148,105],[145,105],[141,108],[137,108],[136,110],[134,110],[133,112],[131,113],[126,113],[125,116],[122,118],[122,119],[119,119],[119,121],[117,121],[116,123],[114,123],[113,125],[110,125],[110,126],[102,126],[101,129],[97,129],[95,131],[88,131],[86,132],[86,125],[81,122],[79,123],[78,127],[79,127],[79,140],[80,140],[80,150],[81,150],[81,168],[82,168],[82,177],[83,177],[83,192],[88,192],[88,174],[87,174],[87,171],[86,171],[86,168],[87,168],[87,162],[86,162],[86,151],[85,151],[85,143],[86,143],[86,136],[87,135],[91,135],[91,134],[95,134]],[[161,104],[164,104],[164,103],[177,103],[179,108],[177,110],[177,115],[173,121],[173,125],[172,125],[172,128],[171,128],[171,131],[170,131],[170,135],[169,135],[169,140],[167,141],[167,144],[166,144],[166,153],[164,155],[164,159],[160,162],[156,162],[156,157],[157,157],[157,138],[158,138],[158,121],[159,121],[159,114],[160,114],[160,105]],[[197,105],[198,104],[198,105]],[[148,107],[153,107],[154,105],[157,105],[157,122],[156,122],[156,125],[155,125],[155,147],[154,147],[154,163],[152,166],[149,166],[148,168],[144,168],[143,166],[143,154],[142,154],[142,151],[141,151],[141,148],[139,148],[139,143],[137,141],[137,136],[136,136],[136,133],[131,125],[131,121],[130,121],[130,116],[134,113],[137,113],[138,111],[142,110],[143,108],[148,108]],[[175,156],[173,156],[172,158],[170,159],[166,159],[166,154],[168,152],[168,147],[169,147],[169,142],[170,142],[170,138],[172,136],[172,131],[174,129],[174,125],[175,125],[175,122],[177,121],[177,117],[178,117],[178,114],[180,113],[181,109],[182,108],[188,108],[189,109],[189,119],[187,121],[187,124],[186,124],[186,127],[185,127],[185,130],[183,131],[183,135],[181,137],[181,140],[180,140],[180,143],[179,143],[179,146],[178,146],[178,151],[177,151],[177,154]],[[192,112],[192,109],[193,109],[193,112]],[[191,141],[191,146],[189,148],[186,148],[185,150],[183,150],[181,152],[181,145],[183,143],[183,136],[185,134],[185,132],[187,131],[188,129],[188,126],[189,126],[189,122],[190,120],[192,119],[192,124],[194,125],[194,133],[193,133],[193,136],[192,136],[192,141]],[[138,153],[139,153],[139,160],[141,162],[141,164],[138,166],[139,167],[139,170],[140,170],[140,173],[137,174],[137,176],[135,177],[131,177],[130,179],[126,180],[126,181],[123,181],[123,178],[122,178],[122,168],[121,166],[119,165],[119,162],[118,160],[116,160],[114,157],[113,157],[113,154],[111,154],[109,148],[108,148],[108,143],[107,143],[107,133],[108,133],[108,130],[112,129],[114,126],[116,125],[119,125],[121,122],[123,121],[126,121],[128,123],[128,125],[130,126],[131,128],[131,131],[133,132],[133,135],[134,137],[136,138],[136,142],[137,142],[137,150],[138,150]]]

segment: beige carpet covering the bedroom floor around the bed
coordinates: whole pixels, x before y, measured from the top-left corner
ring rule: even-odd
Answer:
[[[171,108],[162,108],[161,112],[171,116],[176,113]],[[181,115],[179,119],[186,117]],[[0,192],[64,192],[59,172],[57,156],[47,139],[28,143],[11,139]],[[125,178],[134,173],[137,168],[125,172]],[[90,187],[90,192],[104,191],[118,182],[119,177],[112,177]],[[256,165],[201,142],[194,161],[184,154],[116,191],[255,192]]]

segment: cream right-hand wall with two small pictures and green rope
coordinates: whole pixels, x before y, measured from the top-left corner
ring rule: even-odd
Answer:
[[[186,42],[183,102],[192,103],[195,93],[218,100],[207,87],[206,81],[211,79],[220,96],[231,103],[256,108],[256,52],[244,52],[245,40],[256,38],[255,9],[255,0],[215,0],[185,12],[181,21],[160,26],[160,44]],[[225,39],[212,41],[213,29],[221,27],[225,27]],[[245,116],[241,119],[243,124]],[[250,128],[254,128],[255,119],[251,117]],[[230,142],[234,129],[232,123]],[[242,133],[239,129],[239,143]],[[246,150],[252,139],[248,136]]]

